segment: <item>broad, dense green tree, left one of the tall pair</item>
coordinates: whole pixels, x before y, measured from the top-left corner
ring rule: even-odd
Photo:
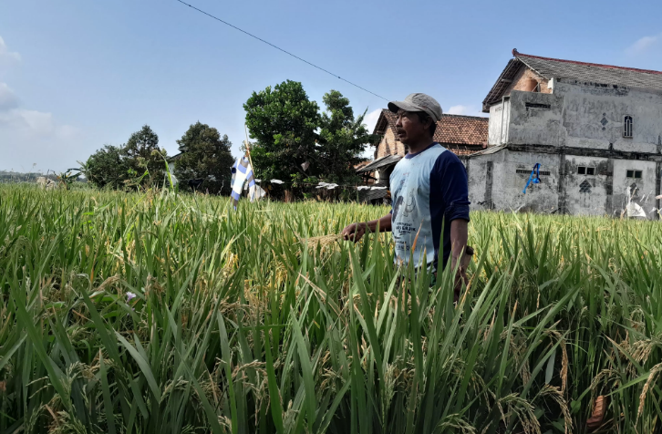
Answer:
[[[257,178],[297,183],[322,169],[315,144],[319,108],[301,83],[287,80],[273,89],[253,92],[243,109],[246,126],[257,140],[251,149]],[[306,161],[307,171],[301,166]]]

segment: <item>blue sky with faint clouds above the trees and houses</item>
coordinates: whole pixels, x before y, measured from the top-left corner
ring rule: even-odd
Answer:
[[[662,70],[662,3],[187,0],[389,99],[481,101],[520,52]],[[253,90],[337,89],[372,127],[386,101],[176,0],[0,0],[0,170],[63,171],[149,124],[172,155],[197,120],[243,140]]]

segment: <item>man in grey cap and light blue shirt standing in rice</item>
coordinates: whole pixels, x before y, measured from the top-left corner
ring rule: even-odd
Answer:
[[[460,159],[434,141],[440,104],[413,93],[404,101],[389,102],[388,109],[398,115],[398,140],[409,147],[390,176],[392,210],[379,220],[350,224],[343,237],[357,243],[379,227],[380,232],[393,233],[397,263],[408,264],[412,258],[415,267],[426,265],[436,273],[451,257],[454,268],[460,254],[469,250],[469,188]],[[460,276],[464,277],[463,266],[458,280]],[[458,291],[456,287],[456,297]]]

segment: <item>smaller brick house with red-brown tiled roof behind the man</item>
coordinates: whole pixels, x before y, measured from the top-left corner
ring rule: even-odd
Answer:
[[[388,197],[388,178],[396,163],[407,154],[407,147],[396,136],[396,121],[394,113],[382,109],[373,132],[382,136],[375,149],[375,160],[357,167],[357,173],[364,177],[366,184],[378,187],[377,190],[363,191],[363,202],[381,202]],[[458,156],[467,157],[487,149],[487,136],[487,118],[444,114],[437,122],[434,140]]]

